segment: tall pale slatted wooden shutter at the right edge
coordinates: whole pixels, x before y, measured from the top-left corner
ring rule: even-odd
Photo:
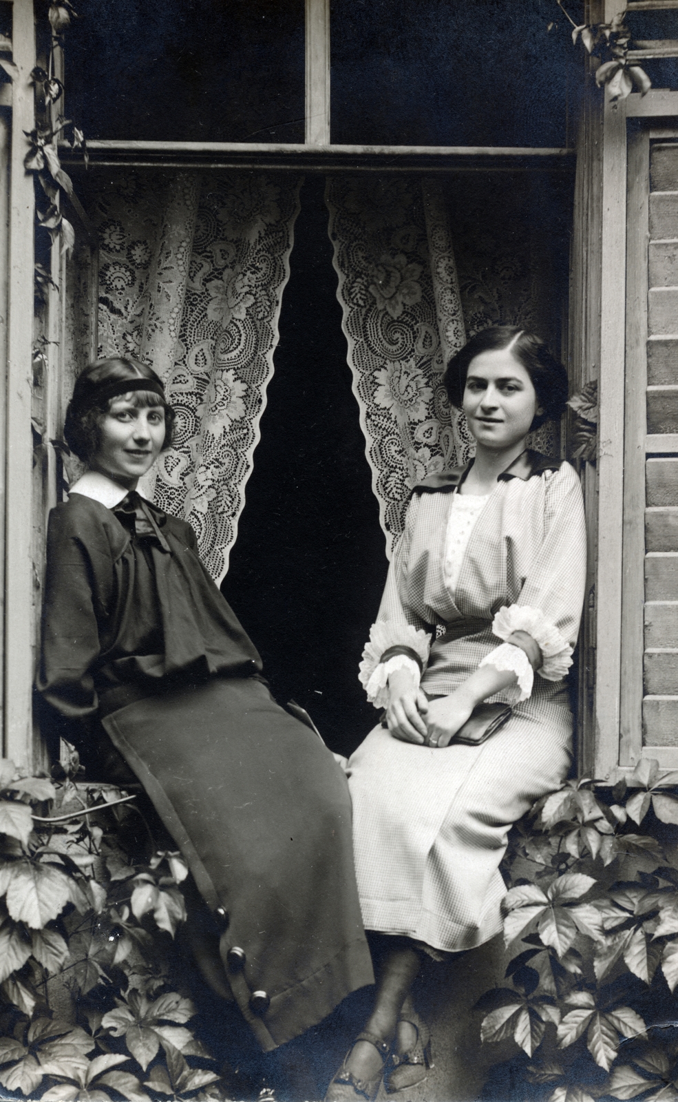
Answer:
[[[620,764],[678,767],[678,130],[627,164]]]

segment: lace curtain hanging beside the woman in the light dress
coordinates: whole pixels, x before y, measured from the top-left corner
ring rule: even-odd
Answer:
[[[464,343],[455,255],[437,180],[335,176],[326,203],[353,393],[387,553],[412,486],[464,463],[473,441],[442,371]]]

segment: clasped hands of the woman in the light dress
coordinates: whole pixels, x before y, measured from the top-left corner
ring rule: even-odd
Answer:
[[[449,745],[478,703],[464,685],[448,696],[428,700],[416,688],[408,670],[394,670],[390,674],[389,693],[386,722],[393,737],[403,743],[435,748]]]

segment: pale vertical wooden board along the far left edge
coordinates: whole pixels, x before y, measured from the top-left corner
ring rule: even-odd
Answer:
[[[7,495],[4,608],[4,754],[17,765],[32,764],[33,683],[31,559],[31,348],[33,338],[33,177],[23,166],[24,130],[34,126],[31,71],[35,65],[32,0],[14,0],[13,86],[10,164]]]

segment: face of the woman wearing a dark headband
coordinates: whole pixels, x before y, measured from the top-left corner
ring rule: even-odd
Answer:
[[[112,399],[99,432],[101,443],[90,467],[133,489],[161,453],[165,441],[164,407],[139,407],[133,393],[121,395]]]

